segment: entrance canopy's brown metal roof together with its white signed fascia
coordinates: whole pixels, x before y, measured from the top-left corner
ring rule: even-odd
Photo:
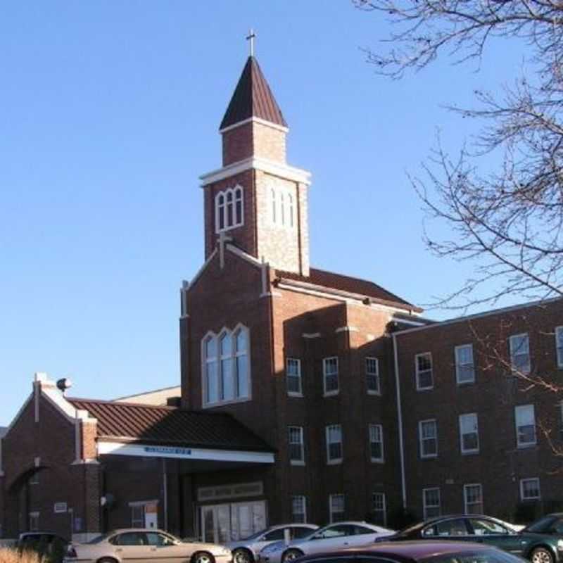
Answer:
[[[224,412],[68,398],[96,419],[98,455],[272,464],[274,450]]]

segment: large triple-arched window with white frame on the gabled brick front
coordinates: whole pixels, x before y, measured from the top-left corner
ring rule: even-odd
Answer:
[[[249,339],[246,327],[208,334],[202,343],[203,404],[245,400],[250,393]]]

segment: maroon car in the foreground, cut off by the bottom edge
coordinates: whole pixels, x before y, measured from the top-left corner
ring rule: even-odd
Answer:
[[[457,541],[405,541],[376,543],[364,548],[323,552],[299,563],[527,563],[490,545]]]

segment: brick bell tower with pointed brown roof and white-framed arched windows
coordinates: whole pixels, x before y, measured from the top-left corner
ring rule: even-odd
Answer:
[[[286,120],[251,54],[219,132],[222,167],[201,176],[205,258],[220,236],[278,270],[308,276],[310,173],[286,163]]]

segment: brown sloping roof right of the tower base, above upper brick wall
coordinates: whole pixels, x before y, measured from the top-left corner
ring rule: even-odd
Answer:
[[[422,309],[396,296],[394,293],[391,293],[391,291],[387,291],[383,287],[374,284],[373,281],[367,281],[366,279],[344,276],[343,274],[335,274],[334,272],[326,272],[325,270],[317,270],[316,268],[311,268],[308,276],[281,270],[276,270],[276,275],[284,279],[303,281],[306,284],[346,291],[347,293],[356,293],[359,296],[383,301],[390,305],[400,305],[400,308],[403,309],[415,310],[417,312],[422,311]]]

